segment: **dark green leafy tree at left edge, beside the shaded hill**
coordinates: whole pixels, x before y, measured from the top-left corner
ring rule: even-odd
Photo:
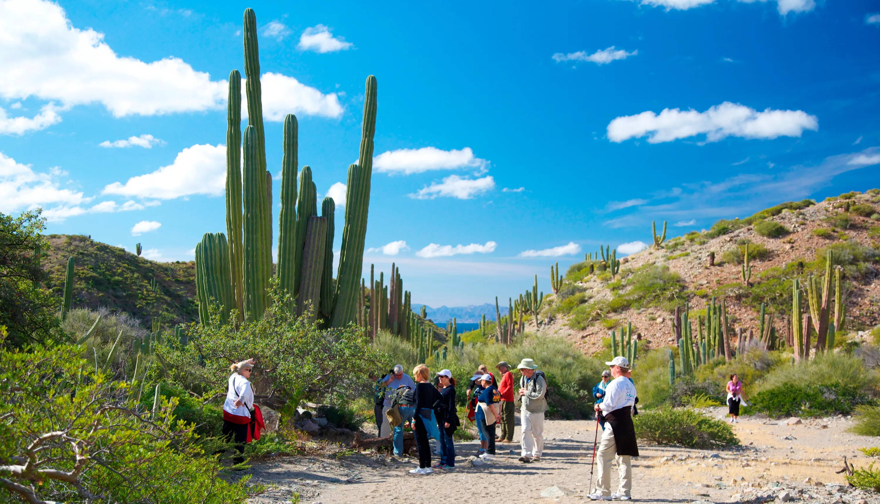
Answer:
[[[40,288],[47,275],[34,257],[46,246],[40,236],[44,223],[39,209],[18,217],[0,214],[0,325],[9,332],[5,347],[64,339],[55,316],[60,300]]]

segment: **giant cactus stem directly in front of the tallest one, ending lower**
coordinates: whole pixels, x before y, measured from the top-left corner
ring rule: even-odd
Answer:
[[[256,128],[245,128],[244,170],[244,281],[245,311],[248,317],[260,318],[266,310],[266,289],[270,265],[265,254],[266,179],[260,168]]]

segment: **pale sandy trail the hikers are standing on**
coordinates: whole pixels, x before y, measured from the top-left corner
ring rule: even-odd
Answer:
[[[794,426],[776,420],[741,419],[734,425],[743,442],[737,449],[706,451],[642,446],[642,457],[633,464],[634,500],[763,502],[788,492],[792,501],[880,503],[876,493],[847,491],[846,481],[834,474],[842,467],[844,455],[856,465],[868,465],[870,459],[857,449],[878,444],[875,438],[847,433],[849,425],[851,422],[845,419]],[[408,473],[409,469],[418,467],[417,460],[411,457],[399,460],[378,454],[357,454],[339,459],[271,459],[267,464],[253,467],[253,480],[272,483],[278,488],[252,502],[288,502],[293,492],[302,495],[304,504],[483,504],[499,496],[525,502],[584,502],[589,493],[594,427],[595,422],[586,420],[547,421],[545,457],[535,464],[517,461],[517,445],[499,445],[494,463],[488,467],[473,467],[466,462],[466,457],[476,452],[477,443],[458,443],[457,469],[436,471],[428,476]],[[519,427],[517,435],[518,431]],[[784,439],[787,436],[794,439]],[[511,454],[511,449],[515,453]],[[804,483],[808,477],[810,483]],[[616,485],[615,468],[612,489],[616,489]]]

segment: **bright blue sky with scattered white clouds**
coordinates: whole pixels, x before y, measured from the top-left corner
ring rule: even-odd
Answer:
[[[377,77],[365,270],[396,261],[414,303],[547,291],[553,261],[637,250],[655,219],[880,186],[873,2],[249,5],[271,172],[296,113],[300,164],[344,194]],[[0,212],[192,259],[225,230],[244,7],[0,0]]]

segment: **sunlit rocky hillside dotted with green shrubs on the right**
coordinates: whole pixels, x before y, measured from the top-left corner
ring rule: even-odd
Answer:
[[[671,313],[690,303],[705,314],[712,296],[725,298],[734,325],[758,332],[760,303],[775,313],[777,332],[788,331],[792,279],[824,274],[825,251],[842,267],[847,317],[845,332],[880,324],[880,191],[857,192],[813,203],[768,208],[751,217],[720,221],[705,232],[667,239],[623,259],[620,273],[589,274],[586,262],[573,265],[562,288],[548,295],[541,332],[562,335],[587,354],[603,347],[610,330],[632,323],[640,345],[673,342]],[[651,241],[651,240],[645,240]],[[742,278],[744,245],[749,244],[751,279]],[[714,254],[714,264],[710,255]],[[806,296],[804,296],[805,298]],[[695,321],[695,318],[693,318]],[[694,327],[696,332],[696,327]]]

